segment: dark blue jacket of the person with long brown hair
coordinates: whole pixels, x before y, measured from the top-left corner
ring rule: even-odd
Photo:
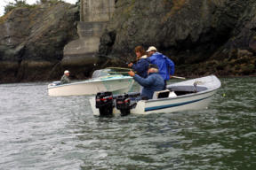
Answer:
[[[140,58],[136,64],[132,65],[132,69],[136,71],[140,77],[148,77],[148,65],[149,61],[146,58]]]

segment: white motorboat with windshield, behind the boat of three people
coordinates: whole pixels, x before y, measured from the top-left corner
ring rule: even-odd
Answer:
[[[53,81],[48,85],[49,96],[80,96],[95,95],[100,91],[113,91],[114,94],[127,93],[133,84],[131,76],[116,74],[113,69],[96,70],[92,79],[60,84]]]

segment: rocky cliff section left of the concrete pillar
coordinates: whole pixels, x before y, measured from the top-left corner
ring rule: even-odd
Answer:
[[[56,3],[17,8],[0,18],[0,82],[60,78],[64,46],[77,37],[78,8]]]

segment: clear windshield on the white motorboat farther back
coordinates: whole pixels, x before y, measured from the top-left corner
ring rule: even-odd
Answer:
[[[106,68],[101,70],[95,70],[92,73],[92,79],[109,76],[109,75],[126,75],[128,76],[128,69],[118,69],[118,68]]]

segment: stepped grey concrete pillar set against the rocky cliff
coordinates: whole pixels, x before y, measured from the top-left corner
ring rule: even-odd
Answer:
[[[79,39],[64,48],[63,66],[89,66],[97,62],[100,35],[115,10],[115,0],[81,0]]]

